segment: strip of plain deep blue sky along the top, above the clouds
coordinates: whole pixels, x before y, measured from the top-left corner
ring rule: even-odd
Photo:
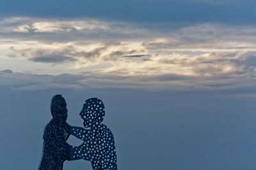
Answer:
[[[252,0],[1,1],[1,14],[131,22],[255,22]]]

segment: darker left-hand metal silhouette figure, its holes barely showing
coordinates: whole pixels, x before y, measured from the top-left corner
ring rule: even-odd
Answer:
[[[61,95],[52,97],[52,120],[44,131],[44,150],[39,170],[61,170],[72,146],[66,142],[67,104]]]

